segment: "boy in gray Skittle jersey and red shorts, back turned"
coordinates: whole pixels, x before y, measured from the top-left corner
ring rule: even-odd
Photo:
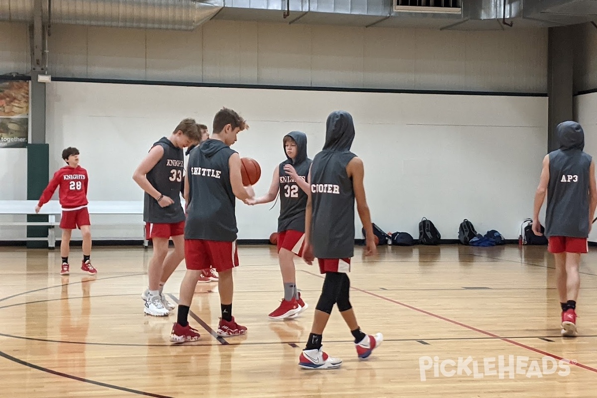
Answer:
[[[199,333],[189,325],[189,308],[202,270],[214,267],[219,274],[220,337],[245,334],[247,328],[232,316],[232,269],[238,267],[236,251],[236,199],[253,197],[251,187],[242,186],[241,158],[230,146],[236,135],[248,128],[232,109],[221,109],[214,117],[213,138],[189,155],[184,177],[184,196],[189,199],[184,226],[184,254],[187,271],[180,284],[177,322],[170,340],[196,341]]]

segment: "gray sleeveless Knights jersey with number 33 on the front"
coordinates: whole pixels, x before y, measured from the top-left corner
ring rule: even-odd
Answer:
[[[143,221],[147,223],[173,224],[184,221],[180,204],[180,187],[183,185],[184,153],[166,137],[153,144],[164,148],[164,156],[146,174],[147,180],[162,195],[169,196],[174,203],[162,208],[148,193],[143,197]]]

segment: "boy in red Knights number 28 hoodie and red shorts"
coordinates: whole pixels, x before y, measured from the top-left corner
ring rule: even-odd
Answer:
[[[62,151],[62,159],[66,166],[54,173],[54,177],[39,198],[35,212],[38,213],[45,203],[52,198],[56,188],[59,188],[60,206],[62,217],[60,229],[62,240],[60,242],[60,255],[62,257],[61,275],[69,274],[69,249],[72,230],[78,228],[83,235],[83,261],[81,270],[95,275],[97,270],[91,265],[91,229],[89,212],[87,211],[87,185],[89,178],[87,170],[79,166],[79,150],[68,147]]]

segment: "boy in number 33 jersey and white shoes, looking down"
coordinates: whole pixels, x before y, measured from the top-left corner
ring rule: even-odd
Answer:
[[[184,211],[180,203],[183,184],[183,148],[199,141],[194,119],[184,119],[170,137],[162,137],[153,144],[137,167],[133,180],[144,190],[143,221],[147,225],[147,239],[153,242],[147,276],[149,287],[141,294],[144,313],[168,316],[175,307],[163,294],[164,284],[184,259]],[[170,238],[174,251],[168,253]]]

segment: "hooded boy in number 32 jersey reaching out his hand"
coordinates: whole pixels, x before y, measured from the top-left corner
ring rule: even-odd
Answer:
[[[272,185],[266,195],[248,199],[248,205],[272,202],[280,193],[278,217],[278,261],[284,283],[284,298],[278,308],[268,316],[273,320],[296,317],[307,309],[296,285],[294,256],[303,255],[304,212],[309,195],[307,175],[311,159],[307,158],[307,135],[292,131],[284,136],[284,152],[287,160],[273,171]]]

